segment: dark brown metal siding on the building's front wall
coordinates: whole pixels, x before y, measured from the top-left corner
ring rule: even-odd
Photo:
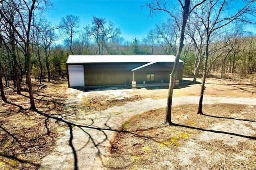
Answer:
[[[131,84],[132,68],[145,63],[86,63],[84,64],[85,86]],[[173,63],[155,63],[135,70],[136,84],[146,81],[146,74],[155,74],[155,83],[169,82]],[[182,82],[182,62],[179,62],[178,80]]]

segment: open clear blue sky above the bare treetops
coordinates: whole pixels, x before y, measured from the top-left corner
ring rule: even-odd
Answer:
[[[132,41],[135,37],[141,41],[142,37],[154,27],[156,23],[168,18],[162,12],[157,16],[149,16],[148,9],[141,6],[145,0],[51,0],[55,10],[46,13],[46,19],[52,24],[60,23],[60,18],[67,15],[79,16],[80,29],[91,25],[92,16],[106,18],[121,29],[120,37]]]

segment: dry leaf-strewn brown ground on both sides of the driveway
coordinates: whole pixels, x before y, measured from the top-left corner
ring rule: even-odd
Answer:
[[[37,82],[34,84],[35,89],[40,86]],[[35,92],[38,111],[28,110],[27,92],[16,95],[13,89],[5,88],[8,103],[0,102],[0,169],[42,168],[43,158],[56,150],[59,139],[65,135],[68,135],[68,147],[76,156],[78,150],[72,141],[75,137],[72,133],[74,127],[82,129],[90,126],[97,117],[102,117],[103,110],[147,98],[164,99],[167,95],[166,88],[115,88],[81,92],[68,89],[65,81],[46,84],[46,87]],[[174,98],[198,96],[199,93],[200,84],[182,85],[174,90]],[[226,100],[254,99],[256,84],[209,78],[205,96],[226,97]],[[103,168],[182,169],[190,165],[202,169],[255,169],[255,106],[204,105],[206,115],[203,116],[195,114],[196,107],[176,106],[173,112],[175,125],[172,127],[161,125],[164,109],[150,110],[132,117],[113,139],[109,159],[102,160]],[[127,112],[132,111],[131,107]],[[106,116],[119,114],[112,111]],[[66,131],[69,133],[66,134]],[[72,169],[74,162],[68,163],[71,168],[62,166],[60,169]],[[194,166],[191,166],[192,163]]]

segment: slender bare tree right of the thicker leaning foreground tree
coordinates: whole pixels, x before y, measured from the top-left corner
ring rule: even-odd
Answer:
[[[206,4],[202,4],[202,6],[198,6],[198,10],[195,15],[200,19],[202,24],[204,25],[204,29],[206,30],[206,45],[205,45],[205,62],[204,62],[204,73],[202,79],[202,88],[200,93],[200,100],[198,106],[198,114],[203,114],[202,112],[202,102],[204,96],[204,85],[206,79],[207,72],[207,62],[209,57],[209,42],[212,34],[218,30],[221,30],[225,26],[229,25],[233,21],[244,21],[249,22],[247,15],[255,14],[255,7],[253,6],[254,0],[250,1],[241,1],[240,6],[242,8],[237,9],[236,11],[232,9],[232,11],[227,13],[227,10],[231,9],[232,1],[226,0],[210,0]],[[199,13],[198,11],[201,10]]]

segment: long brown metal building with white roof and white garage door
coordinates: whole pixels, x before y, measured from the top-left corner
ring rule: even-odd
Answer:
[[[167,83],[174,55],[69,55],[68,87]],[[182,82],[183,62],[176,80]]]

